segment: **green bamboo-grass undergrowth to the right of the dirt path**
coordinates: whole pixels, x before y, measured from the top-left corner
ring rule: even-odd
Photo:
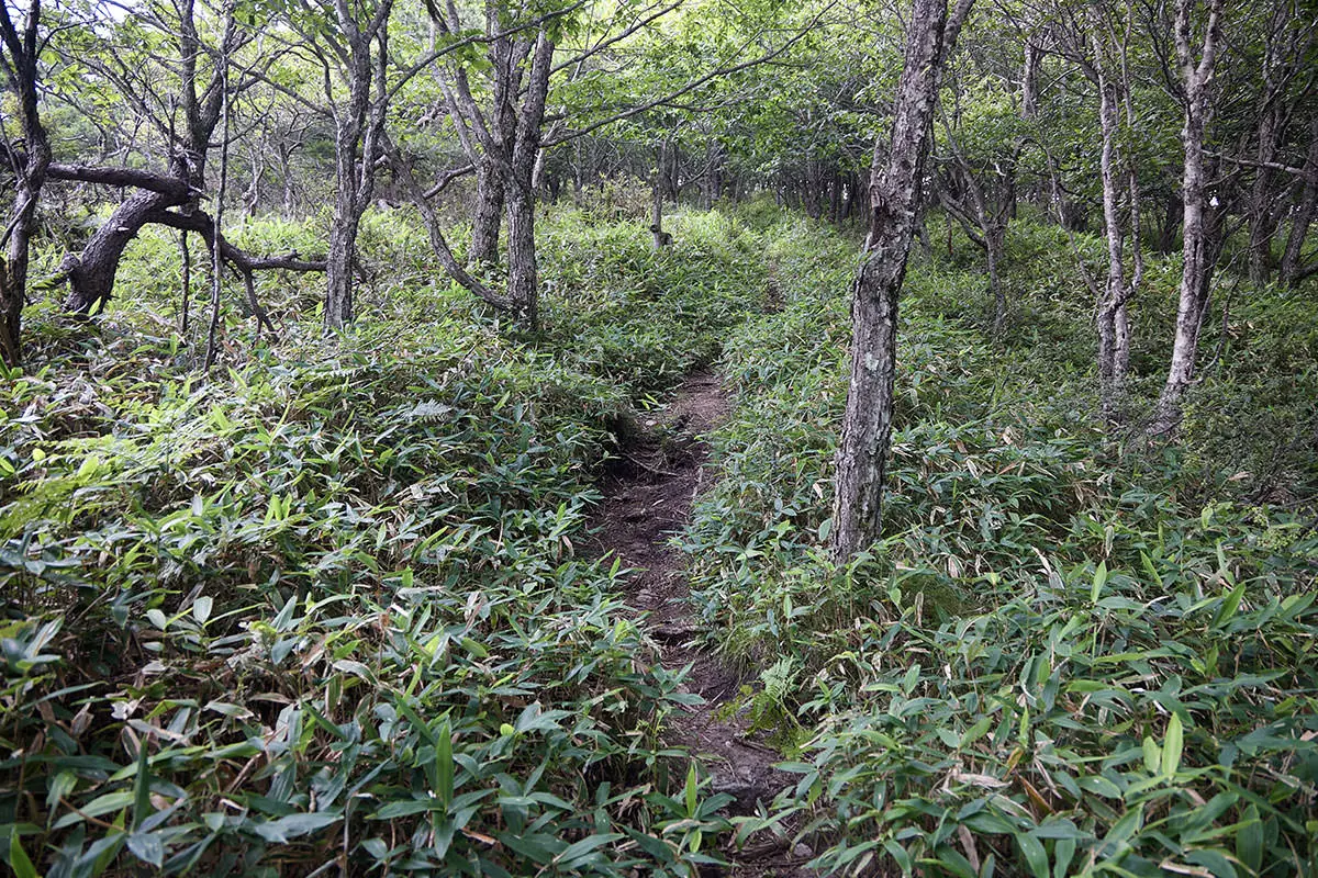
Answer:
[[[1014,246],[1049,253],[1021,226]],[[1182,450],[1119,461],[1086,426],[1093,341],[1064,240],[1037,288],[1014,275],[1053,325],[1007,344],[962,317],[977,276],[913,266],[884,538],[836,569],[851,253],[818,229],[780,238],[787,305],[729,341],[721,480],[683,537],[699,611],[787,707],[799,783],[741,832],[799,827],[815,865],[846,874],[1313,874],[1318,534],[1231,480],[1276,454],[1267,440],[1239,426],[1255,445],[1215,453],[1214,433],[1301,409],[1315,357],[1282,338],[1300,305],[1261,292],[1227,340],[1251,367],[1284,351],[1284,371],[1249,380],[1223,358]],[[1240,390],[1203,420],[1219,387]],[[1284,459],[1289,490],[1311,488],[1304,455]],[[1217,486],[1232,502],[1201,499]]]

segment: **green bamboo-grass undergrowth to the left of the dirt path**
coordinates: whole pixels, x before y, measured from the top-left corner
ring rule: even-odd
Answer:
[[[312,341],[244,353],[227,311],[231,365],[204,378],[152,337],[175,319],[167,238],[130,253],[138,299],[99,338],[37,326],[46,365],[0,405],[14,873],[709,860],[724,798],[660,738],[692,696],[646,661],[618,565],[581,550],[610,430],[713,355],[757,301],[758,247],[716,219],[691,219],[680,261],[639,224],[563,222],[539,346],[464,296],[382,284],[347,338],[294,326]],[[291,323],[301,284],[264,292]]]

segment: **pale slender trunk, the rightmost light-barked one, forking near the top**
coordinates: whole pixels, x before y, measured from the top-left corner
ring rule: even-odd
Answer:
[[[1178,0],[1176,11],[1177,57],[1185,83],[1185,125],[1181,142],[1185,146],[1185,170],[1181,175],[1182,271],[1180,301],[1176,315],[1176,340],[1172,344],[1172,365],[1159,399],[1157,412],[1149,432],[1155,434],[1173,430],[1181,420],[1181,399],[1194,379],[1194,361],[1199,351],[1199,329],[1209,299],[1215,247],[1211,242],[1211,224],[1206,216],[1207,171],[1203,138],[1213,112],[1211,84],[1218,50],[1218,28],[1222,0],[1210,0],[1209,21],[1194,59],[1190,49],[1191,13],[1195,0]]]

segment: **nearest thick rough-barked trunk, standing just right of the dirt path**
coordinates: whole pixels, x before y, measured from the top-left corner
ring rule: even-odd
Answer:
[[[942,63],[973,0],[915,0],[905,66],[887,151],[875,143],[866,258],[851,287],[851,379],[837,449],[830,555],[844,563],[882,533],[883,480],[892,434],[898,299],[928,153]]]

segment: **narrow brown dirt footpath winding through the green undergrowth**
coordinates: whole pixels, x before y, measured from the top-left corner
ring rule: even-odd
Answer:
[[[757,802],[768,804],[793,779],[774,767],[782,754],[763,742],[745,715],[741,687],[754,674],[738,673],[702,645],[704,632],[687,600],[685,557],[670,544],[687,524],[696,496],[717,478],[705,466],[709,448],[701,437],[726,417],[728,408],[718,376],[696,371],[664,411],[638,424],[601,484],[594,540],[601,554],[616,554],[634,570],[626,581],[627,599],[647,615],[658,663],[667,670],[689,666],[684,688],[702,699],[673,723],[675,742],[700,758],[713,792],[733,796],[730,815],[750,815]],[[722,853],[734,878],[813,874],[801,867],[812,856],[804,846],[788,850],[768,842]]]

